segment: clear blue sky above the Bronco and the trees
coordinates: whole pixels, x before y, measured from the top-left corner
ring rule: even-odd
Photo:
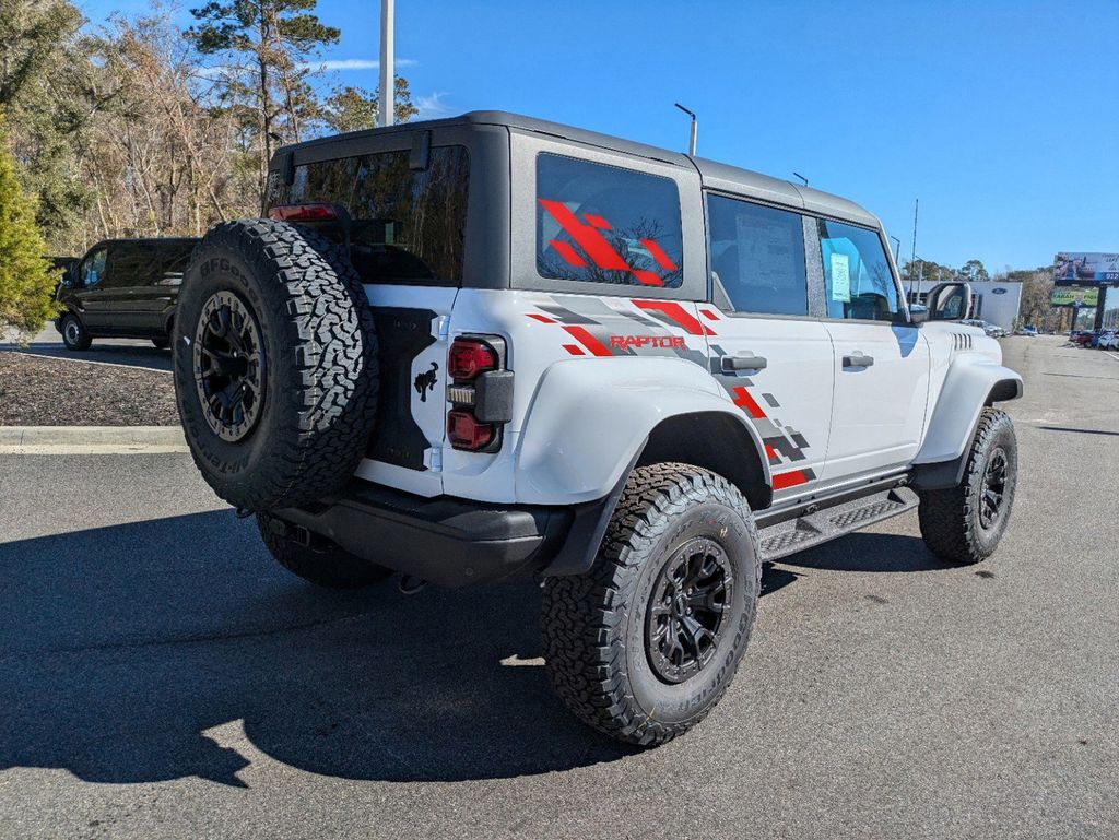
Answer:
[[[200,6],[201,0],[186,8]],[[84,0],[101,22],[139,0]],[[180,12],[184,20],[189,13]],[[336,79],[375,88],[378,0],[320,0]],[[424,115],[501,108],[792,171],[882,217],[909,254],[991,271],[1119,251],[1119,0],[397,0]]]

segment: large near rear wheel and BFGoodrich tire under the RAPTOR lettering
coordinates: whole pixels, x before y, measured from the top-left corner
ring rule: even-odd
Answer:
[[[687,732],[734,677],[760,583],[758,534],[732,484],[688,464],[634,470],[594,568],[545,583],[556,693],[619,740],[661,744]]]

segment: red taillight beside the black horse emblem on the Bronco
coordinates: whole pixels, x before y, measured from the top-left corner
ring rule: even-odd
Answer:
[[[446,438],[467,452],[497,452],[501,428],[513,419],[513,371],[506,370],[500,336],[463,336],[451,343],[446,369]]]

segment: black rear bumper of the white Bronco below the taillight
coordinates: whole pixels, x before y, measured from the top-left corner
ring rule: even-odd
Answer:
[[[586,545],[591,535],[582,526],[592,520],[598,525],[605,501],[555,508],[502,506],[424,499],[354,481],[329,504],[285,508],[273,516],[372,563],[455,587],[548,573],[570,551],[574,561],[564,561],[552,574],[583,570],[587,554],[593,561],[598,544]],[[581,527],[573,527],[576,522]]]

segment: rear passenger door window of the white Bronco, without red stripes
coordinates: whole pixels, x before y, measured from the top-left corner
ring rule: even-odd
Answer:
[[[808,314],[799,214],[709,196],[707,216],[720,306],[735,312]]]

